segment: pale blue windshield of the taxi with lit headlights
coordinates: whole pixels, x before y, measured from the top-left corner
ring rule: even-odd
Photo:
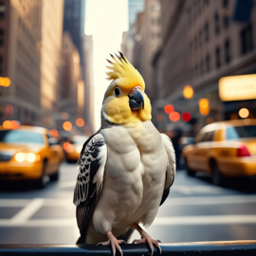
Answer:
[[[5,143],[35,143],[44,144],[44,139],[41,134],[19,130],[2,130],[0,131],[0,142]]]

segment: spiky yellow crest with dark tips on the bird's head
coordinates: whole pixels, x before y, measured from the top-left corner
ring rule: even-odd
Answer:
[[[117,58],[112,54],[111,57],[114,62],[107,60],[111,66],[107,66],[111,71],[107,72],[107,80],[117,80],[117,84],[122,89],[130,89],[131,87],[140,85],[142,90],[145,89],[145,82],[137,69],[128,62],[124,55],[119,52],[120,56]]]

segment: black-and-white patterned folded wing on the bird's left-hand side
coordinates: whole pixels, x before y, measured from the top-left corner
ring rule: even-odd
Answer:
[[[83,145],[78,161],[79,174],[73,202],[77,206],[77,223],[84,243],[92,210],[99,198],[103,184],[107,147],[101,133],[90,137]]]

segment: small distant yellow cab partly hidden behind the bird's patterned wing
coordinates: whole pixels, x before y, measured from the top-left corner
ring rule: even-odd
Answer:
[[[88,139],[86,136],[69,137],[64,143],[65,159],[67,162],[75,162],[79,159],[83,143]]]

